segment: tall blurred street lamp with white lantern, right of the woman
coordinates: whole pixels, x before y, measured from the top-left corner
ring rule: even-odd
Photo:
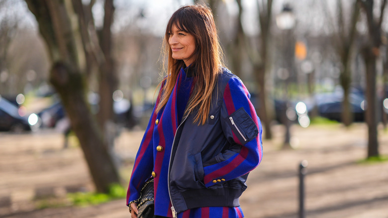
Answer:
[[[285,92],[284,92],[284,99],[285,99],[285,105],[284,105],[284,111],[282,114],[283,117],[283,124],[286,127],[286,133],[285,133],[285,140],[283,144],[283,148],[291,148],[291,132],[290,132],[290,127],[291,127],[291,120],[289,118],[290,114],[290,103],[289,103],[289,94],[288,94],[288,87],[290,83],[290,76],[292,75],[293,72],[293,59],[294,59],[294,43],[293,43],[293,38],[292,38],[292,30],[295,27],[296,19],[295,15],[292,12],[292,8],[290,4],[286,3],[283,5],[282,12],[279,13],[276,16],[276,25],[278,26],[279,29],[281,29],[283,32],[282,34],[284,35],[284,40],[283,40],[283,60],[284,60],[284,66],[285,71],[288,71],[288,76],[281,78],[285,82]]]

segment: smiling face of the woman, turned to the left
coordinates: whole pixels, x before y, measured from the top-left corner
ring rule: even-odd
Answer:
[[[176,25],[173,25],[169,33],[169,45],[173,52],[173,58],[183,60],[186,66],[189,66],[194,61],[195,38],[192,34],[179,30]]]

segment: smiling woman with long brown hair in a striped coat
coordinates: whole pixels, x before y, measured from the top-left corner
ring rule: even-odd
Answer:
[[[156,216],[242,218],[239,197],[262,159],[262,128],[245,86],[222,65],[210,9],[179,8],[165,50],[167,73],[129,182],[131,217],[152,176]]]

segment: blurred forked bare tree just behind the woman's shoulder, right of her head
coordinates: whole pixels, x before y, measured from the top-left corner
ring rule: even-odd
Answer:
[[[202,0],[194,0],[195,3],[202,2]],[[217,6],[221,3],[220,0],[207,0],[209,7],[213,13],[216,13]],[[271,16],[272,16],[272,2],[273,0],[258,0],[257,8],[259,13],[259,25],[261,34],[254,37],[257,43],[251,43],[251,39],[246,35],[243,28],[243,7],[241,0],[236,0],[238,5],[238,13],[236,17],[236,25],[234,31],[231,33],[231,37],[224,41],[226,48],[226,56],[230,60],[229,68],[233,73],[240,76],[242,65],[244,63],[244,57],[248,56],[249,62],[253,68],[254,83],[258,87],[259,101],[257,102],[256,109],[260,119],[264,124],[265,138],[272,138],[271,121],[273,114],[271,113],[272,104],[269,104],[268,100],[268,87],[266,86],[268,66],[270,66],[269,60],[269,47],[270,47],[270,28],[271,28]],[[217,18],[217,16],[215,17]],[[216,22],[218,20],[216,19]],[[255,46],[254,44],[258,44]],[[244,56],[244,54],[247,54]]]

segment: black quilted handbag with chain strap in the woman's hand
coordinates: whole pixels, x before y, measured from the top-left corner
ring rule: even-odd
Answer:
[[[156,218],[154,215],[154,178],[148,180],[140,191],[137,218]]]

